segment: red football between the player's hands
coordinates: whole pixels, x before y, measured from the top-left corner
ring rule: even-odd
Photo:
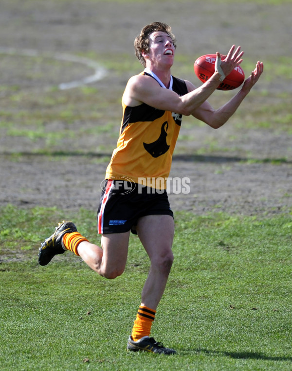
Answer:
[[[224,60],[226,55],[221,55],[221,60]],[[202,55],[194,63],[195,74],[199,77],[202,83],[205,83],[215,71],[216,54]],[[244,72],[240,66],[225,77],[223,82],[217,88],[218,90],[233,90],[244,82]]]

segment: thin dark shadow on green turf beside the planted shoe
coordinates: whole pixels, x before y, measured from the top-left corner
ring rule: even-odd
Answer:
[[[266,354],[261,354],[258,352],[224,352],[224,351],[210,351],[208,349],[194,349],[194,350],[184,350],[183,353],[205,353],[208,355],[218,355],[218,356],[227,356],[235,359],[258,359],[266,361],[286,361],[292,362],[292,357],[283,357],[283,356],[269,356]]]

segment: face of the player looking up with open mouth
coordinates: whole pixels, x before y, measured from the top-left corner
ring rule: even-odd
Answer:
[[[162,31],[156,31],[149,36],[149,51],[147,53],[149,60],[156,64],[163,64],[171,67],[174,59],[175,48],[171,37]]]

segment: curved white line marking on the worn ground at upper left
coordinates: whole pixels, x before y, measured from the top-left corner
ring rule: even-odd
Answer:
[[[15,48],[2,48],[2,47],[0,47],[0,53],[9,54],[9,55],[22,55],[22,56],[28,56],[28,57],[53,58],[59,61],[81,63],[82,65],[86,65],[94,69],[93,75],[84,77],[81,80],[58,84],[58,87],[60,90],[72,89],[74,87],[91,84],[96,81],[102,80],[107,75],[107,70],[104,67],[102,67],[98,62],[95,62],[89,58],[78,57],[72,54],[66,54],[66,53],[48,54],[48,53],[42,53],[40,51],[33,50],[33,49],[15,49]]]

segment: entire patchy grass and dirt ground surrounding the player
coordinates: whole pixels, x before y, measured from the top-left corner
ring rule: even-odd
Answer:
[[[2,1],[0,371],[292,370],[291,1],[210,3],[211,8],[187,0]],[[196,12],[190,14],[194,4]],[[131,12],[135,17],[130,19]],[[202,160],[201,168],[193,161],[193,171],[199,168],[196,179],[206,187],[226,174],[226,194],[234,162],[247,171],[235,182],[243,187],[251,169],[259,171],[258,178],[269,169],[278,176],[275,201],[265,193],[264,180],[263,188],[256,181],[249,185],[251,194],[257,187],[260,212],[249,200],[251,205],[242,203],[245,208],[239,210],[246,194],[229,195],[229,205],[239,202],[237,213],[220,212],[227,197],[211,207],[211,194],[202,202],[206,211],[200,202],[195,203],[200,213],[183,206],[175,211],[175,261],[152,327],[153,337],[176,349],[175,356],[126,351],[148,271],[137,237],[130,237],[124,274],[112,281],[73,253],[56,256],[47,267],[37,264],[40,242],[62,219],[73,219],[82,234],[100,241],[88,177],[97,168],[104,174],[116,144],[122,91],[128,77],[141,70],[132,36],[148,19],[159,17],[169,20],[179,39],[177,76],[193,79],[195,52],[207,53],[219,42],[229,46],[237,28],[247,49],[244,70],[253,68],[258,54],[265,64],[259,87],[228,131],[201,134],[204,125],[185,118],[175,153]],[[193,33],[196,50],[183,37]],[[8,52],[9,47],[17,52]],[[62,90],[59,83],[89,76],[92,68],[62,61],[57,52],[94,61],[108,75]],[[217,93],[215,105],[233,94]],[[204,156],[218,156],[210,180]],[[79,208],[87,201],[85,193],[90,201]]]

